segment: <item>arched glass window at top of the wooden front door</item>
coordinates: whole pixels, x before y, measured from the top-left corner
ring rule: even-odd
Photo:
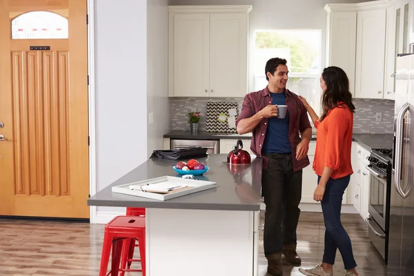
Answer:
[[[53,12],[28,12],[12,20],[12,39],[67,39],[68,19]]]

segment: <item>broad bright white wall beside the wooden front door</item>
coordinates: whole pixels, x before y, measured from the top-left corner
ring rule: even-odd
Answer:
[[[97,191],[148,158],[146,35],[146,1],[95,1]]]

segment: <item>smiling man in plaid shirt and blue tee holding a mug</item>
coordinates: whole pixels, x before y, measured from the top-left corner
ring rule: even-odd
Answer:
[[[286,89],[286,59],[269,59],[265,73],[268,86],[244,97],[236,125],[241,135],[253,131],[250,148],[264,159],[264,254],[268,259],[268,273],[282,276],[282,254],[291,264],[301,263],[296,253],[296,228],[302,197],[302,169],[309,165],[312,128],[304,104]],[[277,105],[288,106],[284,119],[277,118]]]

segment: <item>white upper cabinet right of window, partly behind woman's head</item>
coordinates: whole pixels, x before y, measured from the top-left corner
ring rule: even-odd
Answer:
[[[357,12],[336,12],[325,7],[326,28],[326,66],[342,68],[349,79],[349,90],[355,88],[355,45],[357,39]]]

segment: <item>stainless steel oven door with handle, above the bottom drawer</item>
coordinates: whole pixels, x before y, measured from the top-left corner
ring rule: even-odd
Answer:
[[[366,168],[369,170],[369,172],[371,172],[368,213],[385,232],[387,198],[386,175],[383,175],[371,166],[366,166]]]

